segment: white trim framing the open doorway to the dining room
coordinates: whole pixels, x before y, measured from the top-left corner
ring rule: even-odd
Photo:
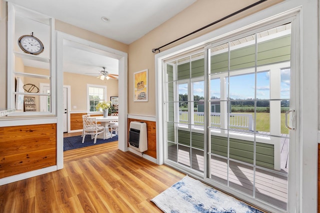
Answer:
[[[75,48],[82,48],[86,51],[98,52],[118,59],[119,79],[118,79],[118,97],[119,97],[119,131],[118,131],[118,149],[127,151],[127,90],[123,85],[127,85],[127,53],[107,46],[103,46],[92,41],[88,41],[73,35],[56,31],[56,70],[57,70],[57,106],[62,106],[63,101],[63,46],[69,45]],[[62,121],[62,107],[57,107],[57,124]],[[57,125],[57,168],[63,168],[63,130],[61,125]]]

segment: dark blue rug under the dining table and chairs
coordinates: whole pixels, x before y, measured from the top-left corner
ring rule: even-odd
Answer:
[[[82,144],[81,135],[67,137],[67,138],[63,138],[63,151],[93,146],[93,145],[97,145],[97,144],[104,144],[104,143],[117,141],[117,140],[118,140],[117,135],[113,136],[112,138],[105,139],[105,140],[97,138],[96,143],[93,144],[94,139],[91,139],[90,135],[86,135],[84,138],[84,143]]]

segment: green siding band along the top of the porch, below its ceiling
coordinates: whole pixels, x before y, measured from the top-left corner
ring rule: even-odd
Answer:
[[[290,60],[290,42],[291,36],[267,40],[257,44],[257,65],[265,65]],[[212,55],[211,73],[220,73],[228,71],[228,52]],[[230,70],[238,70],[254,67],[255,65],[255,45],[238,48],[230,51]],[[198,59],[191,62],[191,77],[203,76],[204,59]],[[178,65],[178,80],[188,79],[190,77],[190,64],[184,63]]]

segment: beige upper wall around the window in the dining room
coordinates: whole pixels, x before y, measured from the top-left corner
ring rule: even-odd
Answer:
[[[87,111],[87,84],[106,86],[106,100],[108,101],[110,100],[110,96],[118,96],[118,80],[104,79],[102,81],[94,76],[64,72],[63,85],[70,86],[71,111]],[[76,108],[74,109],[73,106]]]

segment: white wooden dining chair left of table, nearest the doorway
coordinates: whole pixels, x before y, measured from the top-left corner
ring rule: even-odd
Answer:
[[[98,126],[96,124],[96,119],[94,117],[86,117],[83,118],[83,137],[82,137],[82,144],[84,143],[84,138],[86,135],[91,135],[94,136],[94,142],[93,144],[96,143],[96,137],[99,134],[103,134],[103,140],[105,139],[105,134],[104,134],[104,127],[103,126]]]

